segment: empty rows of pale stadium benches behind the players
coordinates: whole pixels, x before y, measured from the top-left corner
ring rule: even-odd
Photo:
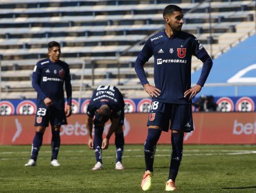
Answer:
[[[73,96],[90,97],[100,84],[118,85],[129,98],[147,96],[134,61],[150,34],[163,30],[165,0],[0,1],[1,99],[31,99],[31,73],[59,41],[69,63]],[[255,1],[175,0],[183,30],[194,34],[214,59],[255,33]],[[192,72],[201,61],[192,60]],[[152,83],[153,60],[145,68]]]

